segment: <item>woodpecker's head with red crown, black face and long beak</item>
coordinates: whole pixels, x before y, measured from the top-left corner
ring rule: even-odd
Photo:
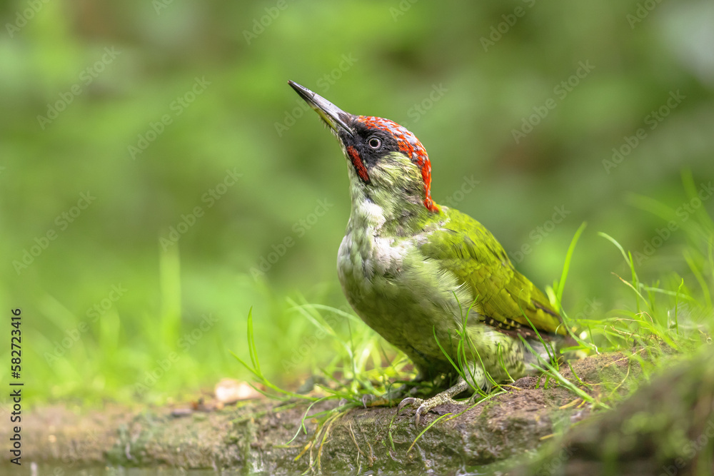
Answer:
[[[288,83],[340,141],[350,165],[353,201],[358,196],[394,212],[421,208],[438,213],[431,199],[431,162],[413,133],[389,119],[346,113],[308,88]]]

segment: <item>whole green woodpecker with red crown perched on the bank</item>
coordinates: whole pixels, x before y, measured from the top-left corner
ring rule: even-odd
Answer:
[[[388,119],[353,116],[288,83],[347,159],[352,209],[337,273],[348,303],[411,358],[418,380],[457,375],[452,362],[462,365],[456,385],[426,401],[408,397],[400,409],[418,405],[418,423],[469,387],[521,378],[537,359],[521,336],[543,356],[542,341],[563,341],[560,315],[491,232],[431,199],[431,163],[413,133]]]

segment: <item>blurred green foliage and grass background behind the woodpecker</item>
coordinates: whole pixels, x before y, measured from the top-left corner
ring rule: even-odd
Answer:
[[[346,305],[346,163],[288,79],[410,128],[435,201],[541,287],[588,221],[571,315],[620,305],[611,272],[628,271],[597,231],[650,254],[645,278],[685,274],[681,227],[714,210],[710,1],[24,0],[0,20],[0,335],[21,308],[36,402],[247,378],[231,351],[247,356],[251,306],[277,383],[331,358],[286,298]],[[657,240],[667,222],[633,194],[680,210],[678,229]]]

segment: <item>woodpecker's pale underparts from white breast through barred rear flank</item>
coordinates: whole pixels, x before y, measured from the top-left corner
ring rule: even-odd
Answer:
[[[406,353],[423,375],[433,376],[453,370],[435,333],[441,346],[452,350],[452,360],[458,360],[456,330],[464,322],[461,313],[469,312],[468,334],[484,370],[496,380],[523,375],[526,367],[520,340],[481,323],[478,307],[469,310],[471,290],[456,275],[423,257],[418,248],[423,238],[381,238],[369,228],[366,233],[354,233],[348,227],[337,269],[357,315]],[[478,385],[485,388],[488,383],[482,379]]]

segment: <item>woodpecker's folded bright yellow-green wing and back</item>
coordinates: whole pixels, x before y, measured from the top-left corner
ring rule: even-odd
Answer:
[[[513,268],[491,232],[458,210],[449,208],[445,212],[446,221],[429,233],[421,252],[471,287],[473,295],[478,295],[486,323],[503,329],[522,325],[527,331],[531,325],[523,316],[526,313],[538,330],[565,334],[560,315],[548,298]]]

